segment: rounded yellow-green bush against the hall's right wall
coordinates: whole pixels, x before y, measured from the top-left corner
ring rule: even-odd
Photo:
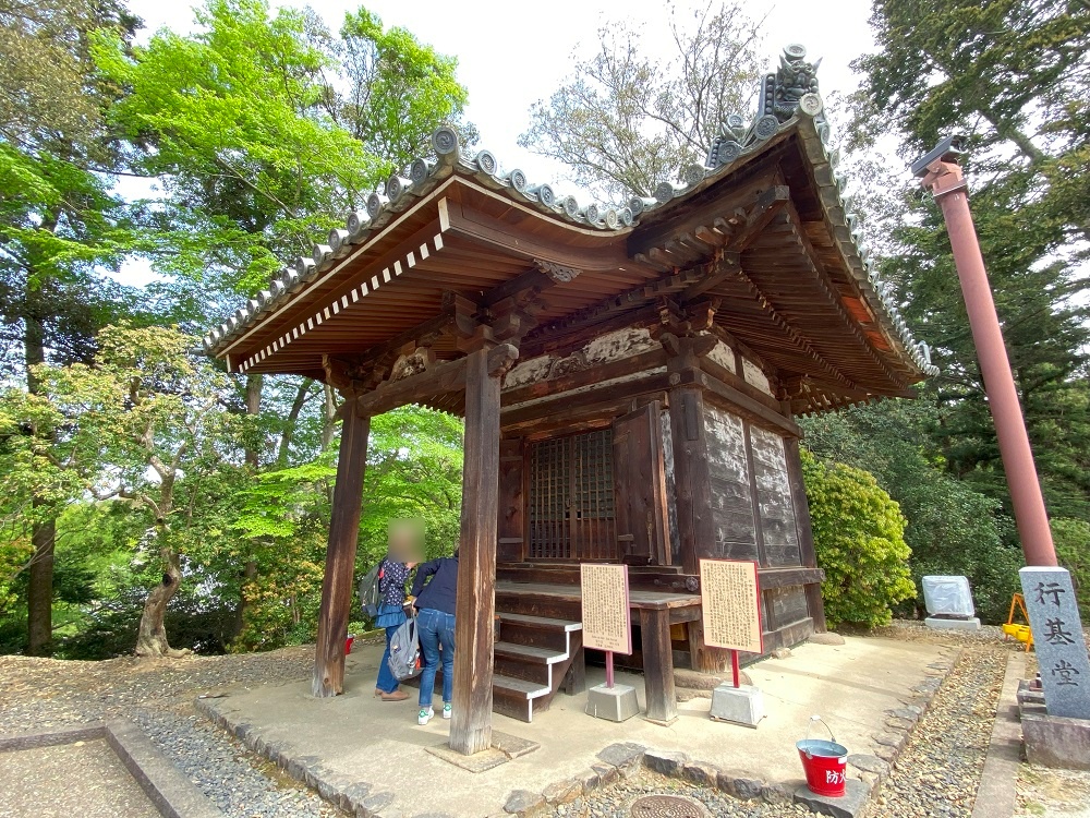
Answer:
[[[893,605],[916,596],[899,507],[861,469],[803,452],[802,474],[829,626],[888,625]]]

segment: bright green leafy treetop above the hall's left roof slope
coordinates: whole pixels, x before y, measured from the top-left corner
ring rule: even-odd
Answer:
[[[252,296],[316,231],[343,226],[460,115],[465,91],[455,60],[364,9],[340,38],[265,0],[195,13],[191,35],[159,32],[131,57],[101,38],[97,56],[129,89],[111,119],[137,148],[134,170],[164,185],[144,208],[144,252],[174,276],[171,297],[203,311],[219,309],[209,290]]]

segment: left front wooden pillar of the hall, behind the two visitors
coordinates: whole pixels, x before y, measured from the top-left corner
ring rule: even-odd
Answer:
[[[355,552],[363,505],[363,474],[367,466],[367,435],[371,418],[361,418],[355,400],[344,404],[337,482],[334,484],[326,573],[322,580],[322,610],[318,613],[318,645],[314,653],[311,690],[316,698],[344,691],[344,639],[352,610]]]

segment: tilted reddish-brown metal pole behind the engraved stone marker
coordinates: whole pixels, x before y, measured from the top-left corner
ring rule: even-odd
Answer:
[[[1026,564],[1056,565],[1056,551],[1052,544],[1052,530],[1049,528],[1049,515],[1044,508],[1037,467],[1033,465],[1029,435],[1026,433],[1026,420],[1003,344],[1000,318],[992,300],[984,258],[980,253],[980,242],[972,226],[968,184],[956,163],[936,159],[927,167],[928,173],[922,183],[943,208],[943,218],[949,232],[954,264],[961,281],[989,408],[995,421],[1000,456],[1003,458],[1003,470],[1010,489],[1015,522]]]

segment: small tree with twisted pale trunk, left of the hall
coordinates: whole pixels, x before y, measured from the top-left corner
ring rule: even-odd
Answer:
[[[92,365],[36,368],[48,397],[25,396],[22,404],[37,408],[52,446],[22,458],[24,469],[34,469],[23,480],[34,486],[48,477],[58,502],[88,493],[124,504],[142,520],[136,551],[156,566],[158,581],[144,601],[136,652],[172,655],[167,605],[182,582],[183,555],[208,548],[197,501],[221,491],[233,471],[238,421],[223,409],[226,376],[195,354],[192,337],[122,324],[102,329],[97,341]],[[17,409],[23,397],[10,394],[8,406]]]

